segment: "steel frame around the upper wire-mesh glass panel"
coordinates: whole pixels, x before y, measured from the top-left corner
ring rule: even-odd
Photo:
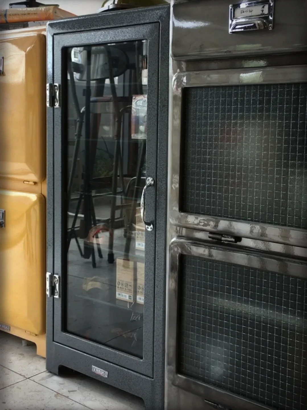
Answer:
[[[182,68],[182,67],[180,67]],[[179,68],[179,70],[180,70]],[[178,70],[178,71],[179,71]],[[182,95],[185,87],[284,84],[307,82],[307,67],[229,68],[223,70],[177,72],[172,79],[169,124],[169,223],[253,240],[307,248],[307,230],[234,219],[187,214],[179,211]]]

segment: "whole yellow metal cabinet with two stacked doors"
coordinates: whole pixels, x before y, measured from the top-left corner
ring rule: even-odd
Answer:
[[[1,33],[2,57],[0,330],[34,342],[45,356],[45,28]]]

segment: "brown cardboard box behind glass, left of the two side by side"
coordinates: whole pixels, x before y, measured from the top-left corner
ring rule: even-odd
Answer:
[[[116,298],[132,302],[134,288],[133,261],[118,258],[116,260]]]

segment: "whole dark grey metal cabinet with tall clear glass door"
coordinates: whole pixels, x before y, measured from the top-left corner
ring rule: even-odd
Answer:
[[[169,7],[47,28],[47,370],[164,408]]]

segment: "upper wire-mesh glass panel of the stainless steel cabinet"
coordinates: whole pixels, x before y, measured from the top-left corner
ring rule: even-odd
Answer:
[[[185,89],[181,211],[307,228],[307,84]]]

